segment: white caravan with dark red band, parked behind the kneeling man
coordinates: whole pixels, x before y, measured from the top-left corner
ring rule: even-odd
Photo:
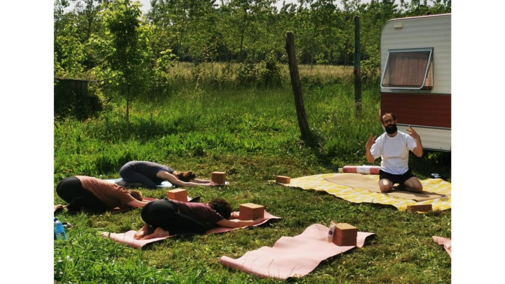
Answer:
[[[450,15],[389,20],[380,38],[380,112],[412,125],[427,150],[450,152]]]

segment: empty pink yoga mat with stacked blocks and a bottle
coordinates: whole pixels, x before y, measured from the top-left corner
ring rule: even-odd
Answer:
[[[272,248],[261,247],[246,252],[238,259],[222,256],[219,262],[264,278],[302,277],[314,270],[321,261],[354,248],[326,242],[328,230],[324,225],[313,224],[299,235],[281,237]],[[365,239],[373,234],[358,232],[357,246],[363,247]]]

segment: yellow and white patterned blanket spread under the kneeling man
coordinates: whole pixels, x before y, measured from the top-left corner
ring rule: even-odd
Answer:
[[[335,180],[344,175],[349,174],[327,173],[327,174],[302,176],[297,178],[291,178],[290,183],[285,183],[283,185],[290,187],[300,187],[304,190],[325,191],[331,195],[334,195],[336,197],[345,199],[353,203],[368,202],[368,203],[392,205],[400,211],[406,210],[408,205],[421,205],[421,204],[431,204],[433,207],[433,211],[447,210],[451,208],[450,182],[444,181],[443,179],[440,178],[424,179],[421,180],[421,183],[423,184],[423,192],[438,194],[442,196],[439,198],[433,198],[418,202],[412,199],[399,198],[398,197],[399,195],[390,196],[379,192],[373,192],[367,186],[359,185],[364,184],[363,180],[356,183],[349,183],[347,184],[348,186],[335,183]],[[367,174],[367,175],[361,175],[360,178],[370,179],[371,181],[373,181],[370,182],[370,184],[375,183],[377,184],[378,188],[377,182],[379,181],[379,175]]]

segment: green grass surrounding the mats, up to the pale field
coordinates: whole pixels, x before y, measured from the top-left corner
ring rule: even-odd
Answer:
[[[281,236],[301,233],[330,220],[354,224],[376,238],[323,261],[295,283],[449,283],[451,262],[431,236],[450,238],[451,212],[409,214],[377,204],[352,204],[334,196],[271,184],[276,175],[299,177],[336,172],[344,165],[366,164],[364,145],[380,134],[379,90],[363,90],[363,113],[354,115],[354,89],[348,83],[312,84],[304,88],[309,145],[299,139],[291,88],[204,88],[180,85],[156,104],[135,103],[130,123],[124,102],[111,102],[99,117],[55,122],[54,183],[72,175],[119,177],[130,160],[149,160],[193,170],[210,177],[226,171],[228,186],[188,188],[208,202],[220,196],[236,209],[258,203],[281,220],[224,234],[174,238],[136,250],[99,237],[142,226],[140,209],[103,215],[57,214],[74,227],[69,240],[55,241],[55,282],[88,283],[244,283],[260,279],[219,263],[238,258]],[[450,158],[443,153],[411,156],[421,178],[437,172],[450,181]],[[376,164],[380,161],[377,160]],[[163,198],[165,190],[147,190]],[[63,201],[55,193],[55,204]]]

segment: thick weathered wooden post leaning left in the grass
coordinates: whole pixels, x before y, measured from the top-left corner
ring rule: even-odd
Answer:
[[[300,75],[296,65],[296,54],[294,52],[293,32],[286,32],[286,52],[289,63],[289,75],[291,76],[291,86],[293,88],[294,105],[296,107],[296,116],[298,117],[298,126],[300,127],[301,139],[307,142],[309,138],[309,123],[305,114],[304,99],[301,96]]]

